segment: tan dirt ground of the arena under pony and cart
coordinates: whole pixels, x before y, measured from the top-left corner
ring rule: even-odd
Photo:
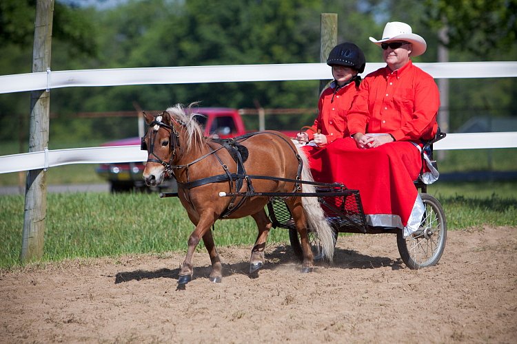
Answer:
[[[517,228],[448,233],[440,264],[409,270],[395,235],[339,237],[311,274],[271,245],[220,248],[222,283],[196,252],[68,261],[0,274],[0,343],[517,343]]]

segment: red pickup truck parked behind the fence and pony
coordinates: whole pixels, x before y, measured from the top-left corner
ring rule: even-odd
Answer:
[[[205,136],[219,138],[233,138],[246,133],[243,119],[236,109],[225,107],[200,107],[196,113],[204,115],[197,116],[199,124],[205,128]],[[296,136],[296,131],[283,131],[288,136]],[[125,146],[140,144],[141,138],[125,138],[123,140],[111,141],[103,146]],[[144,162],[125,162],[117,164],[101,164],[97,173],[110,183],[112,192],[119,191],[156,191],[145,186],[142,178]],[[167,178],[159,186],[158,191],[175,191],[176,181],[174,178]]]

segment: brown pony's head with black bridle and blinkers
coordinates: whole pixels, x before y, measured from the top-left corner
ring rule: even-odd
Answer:
[[[142,138],[141,149],[148,152],[148,160],[143,170],[143,179],[148,186],[163,182],[176,149],[179,147],[179,132],[168,111],[151,115],[143,113],[148,131]]]

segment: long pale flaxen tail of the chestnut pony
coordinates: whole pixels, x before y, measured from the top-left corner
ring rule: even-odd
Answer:
[[[298,154],[303,163],[302,180],[314,182],[309,168],[309,160],[305,152],[303,152],[298,145],[296,145],[296,149],[298,149]],[[302,184],[302,189],[304,193],[316,192],[312,184]],[[307,226],[316,231],[316,235],[321,243],[323,257],[332,261],[334,256],[334,230],[328,224],[327,219],[325,219],[325,213],[323,213],[323,209],[318,202],[318,197],[302,197],[302,205],[305,211],[305,217],[307,218]]]

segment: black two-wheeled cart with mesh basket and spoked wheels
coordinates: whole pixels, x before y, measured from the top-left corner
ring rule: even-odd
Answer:
[[[436,168],[436,160],[432,159],[432,144],[445,138],[445,133],[436,135],[433,140],[425,142],[425,151]],[[423,153],[422,153],[423,154]],[[424,162],[423,162],[424,163]],[[434,266],[440,260],[447,240],[447,222],[443,208],[436,198],[427,193],[427,185],[420,181],[414,182],[419,190],[420,197],[425,206],[425,212],[420,222],[420,228],[408,237],[403,236],[401,228],[369,226],[365,219],[361,195],[357,190],[347,189],[345,186],[320,187],[316,193],[305,194],[304,197],[318,197],[326,215],[327,222],[334,229],[334,244],[338,239],[338,233],[363,233],[363,234],[396,234],[398,252],[405,265],[410,269],[420,269]],[[289,230],[289,238],[292,249],[297,257],[302,257],[301,241],[298,235],[289,209],[283,202],[284,197],[274,196],[267,204],[270,219],[274,227]],[[310,231],[309,238],[314,251],[314,256],[319,256],[318,238]]]

